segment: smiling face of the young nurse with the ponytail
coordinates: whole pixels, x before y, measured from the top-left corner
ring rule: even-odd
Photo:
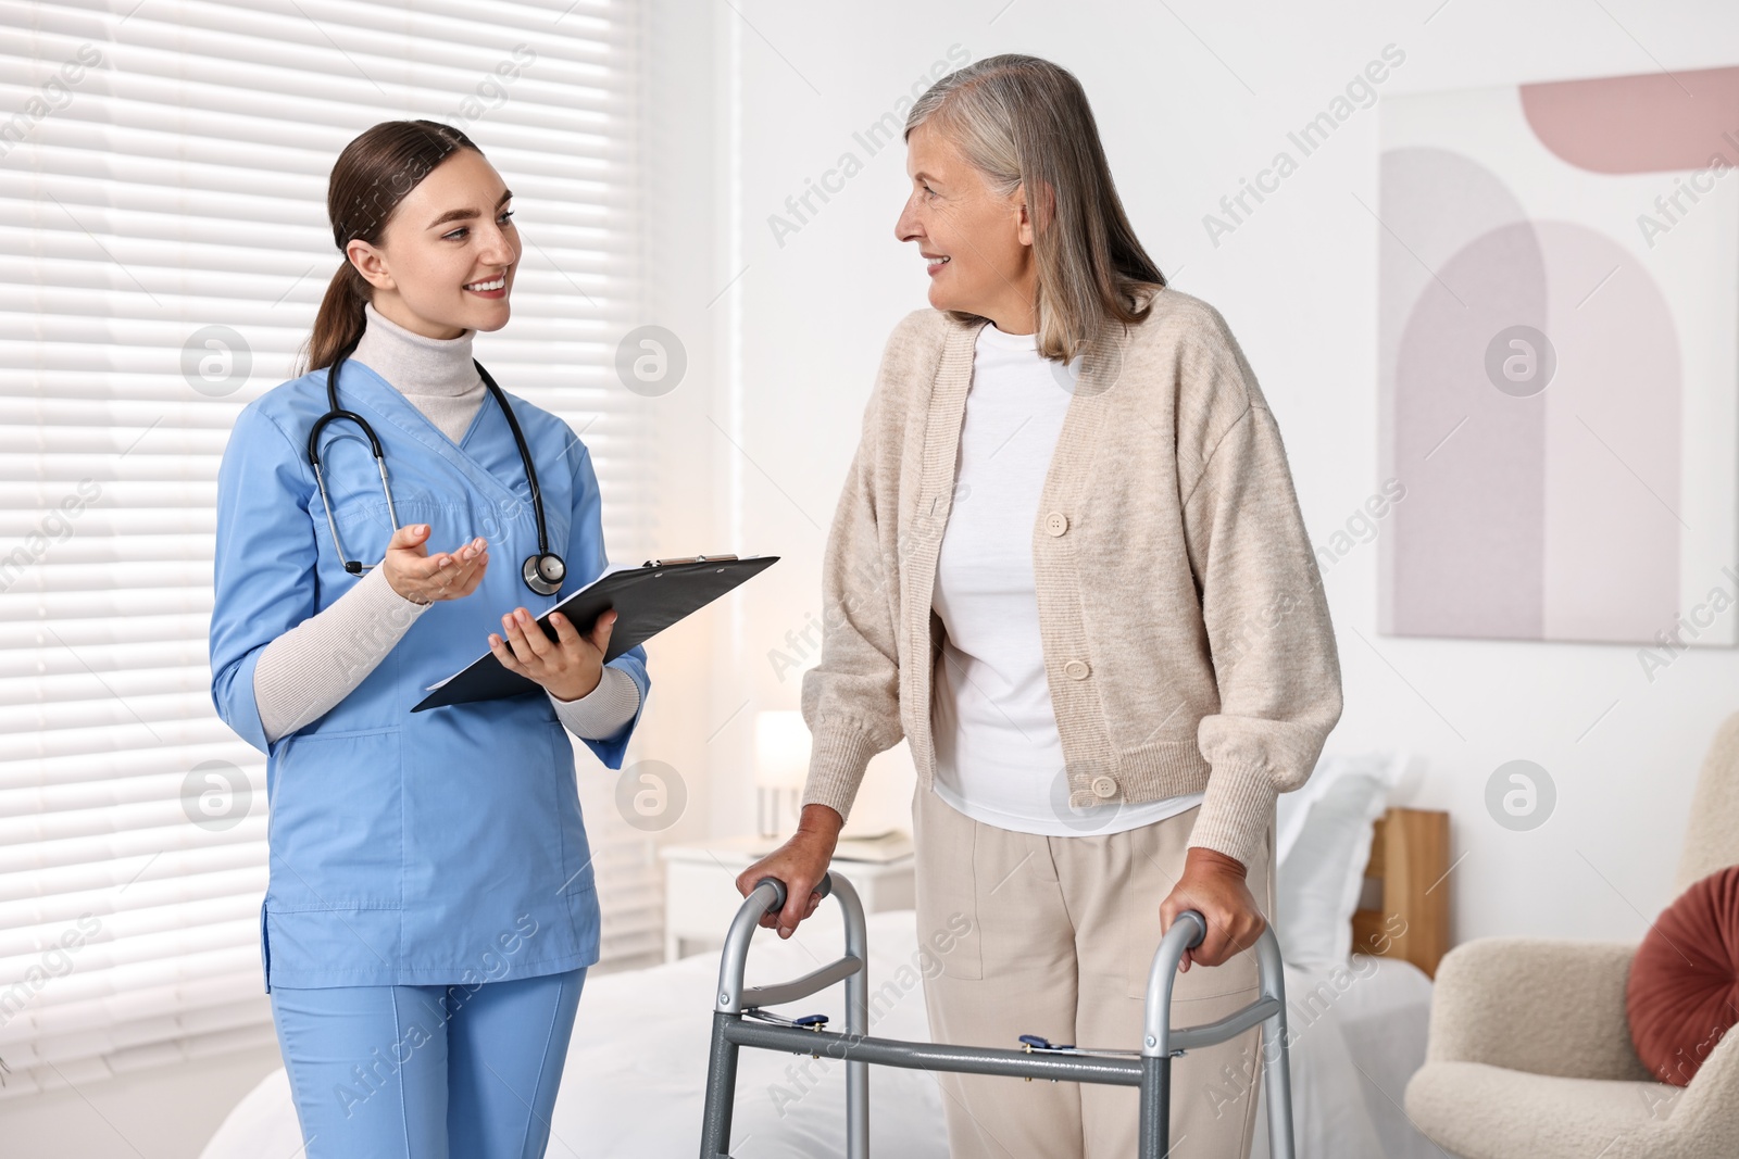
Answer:
[[[377,245],[344,250],[374,287],[374,308],[431,339],[508,325],[520,264],[511,198],[480,153],[447,156],[398,202]]]

